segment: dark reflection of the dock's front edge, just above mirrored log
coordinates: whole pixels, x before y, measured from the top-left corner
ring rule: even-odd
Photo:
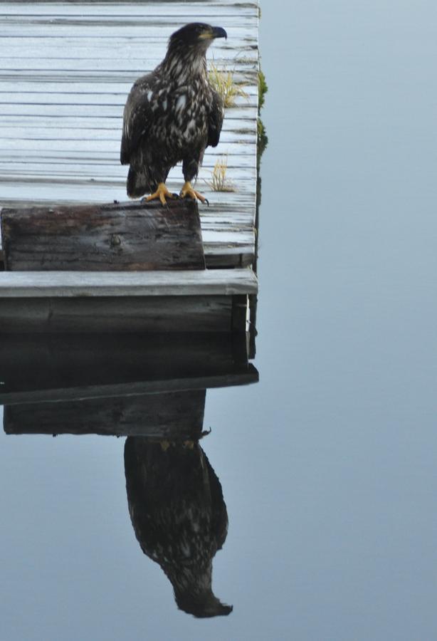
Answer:
[[[241,334],[1,335],[0,404],[138,396],[258,380]]]

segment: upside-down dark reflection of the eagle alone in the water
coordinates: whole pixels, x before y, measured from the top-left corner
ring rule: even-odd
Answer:
[[[214,595],[212,560],[226,540],[221,484],[199,442],[125,443],[127,502],[144,554],[172,583],[178,607],[195,617],[228,615]]]

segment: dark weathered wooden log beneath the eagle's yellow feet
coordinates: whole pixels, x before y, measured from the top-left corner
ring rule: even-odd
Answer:
[[[9,271],[204,269],[199,208],[189,199],[2,209]]]

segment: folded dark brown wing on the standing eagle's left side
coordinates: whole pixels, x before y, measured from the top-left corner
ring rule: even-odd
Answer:
[[[132,152],[137,149],[139,140],[147,135],[152,122],[152,80],[152,74],[139,78],[127,98],[120,150],[122,165],[129,165]]]

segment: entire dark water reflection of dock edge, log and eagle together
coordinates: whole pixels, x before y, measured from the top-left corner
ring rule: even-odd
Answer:
[[[200,440],[206,389],[258,380],[246,335],[9,335],[0,343],[5,432],[127,436],[127,503],[142,551],[164,570],[181,610],[231,613],[212,590],[228,515]]]

